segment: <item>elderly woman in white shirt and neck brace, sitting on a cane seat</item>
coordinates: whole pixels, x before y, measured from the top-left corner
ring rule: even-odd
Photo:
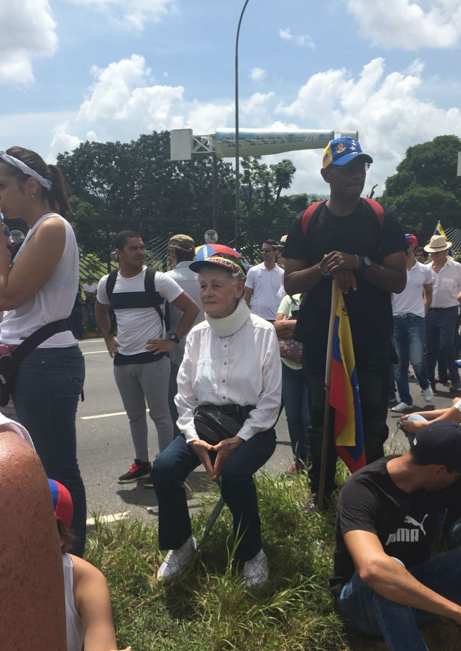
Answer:
[[[183,482],[203,464],[233,516],[236,555],[244,562],[248,587],[267,581],[269,567],[261,544],[261,523],[253,475],[274,452],[274,423],[280,408],[281,369],[274,327],[252,314],[243,299],[245,270],[238,258],[217,254],[192,262],[198,271],[205,321],[187,337],[178,373],[179,436],[155,460],[151,477],[159,503],[159,546],[169,549],[159,581],[182,574],[194,559],[197,542]],[[241,427],[236,436],[210,445],[198,437],[194,414],[215,405]]]

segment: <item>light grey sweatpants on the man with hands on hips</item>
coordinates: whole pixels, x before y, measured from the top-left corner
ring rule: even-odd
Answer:
[[[170,360],[162,357],[150,364],[114,366],[114,376],[128,416],[135,458],[146,462],[149,460],[146,402],[159,437],[160,452],[173,440],[168,408]]]

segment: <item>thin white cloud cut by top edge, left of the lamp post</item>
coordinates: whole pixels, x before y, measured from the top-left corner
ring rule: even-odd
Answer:
[[[177,10],[174,0],[67,0],[73,5],[85,5],[109,15],[111,20],[128,31],[142,31],[149,21],[159,22],[171,10]]]

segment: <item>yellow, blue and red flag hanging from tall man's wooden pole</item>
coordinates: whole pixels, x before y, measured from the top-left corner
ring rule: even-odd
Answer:
[[[362,409],[349,316],[341,290],[337,290],[336,318],[329,404],[334,409],[334,441],[337,454],[354,473],[365,464]]]

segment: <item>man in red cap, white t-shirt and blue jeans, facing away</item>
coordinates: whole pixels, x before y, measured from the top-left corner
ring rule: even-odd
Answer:
[[[426,337],[425,316],[432,301],[432,272],[415,258],[418,242],[413,233],[406,233],[406,287],[401,294],[391,294],[394,346],[399,361],[394,365],[400,402],[392,411],[412,409],[413,400],[408,386],[408,363],[412,363],[421,393],[430,402],[434,393],[430,387],[424,358]]]

